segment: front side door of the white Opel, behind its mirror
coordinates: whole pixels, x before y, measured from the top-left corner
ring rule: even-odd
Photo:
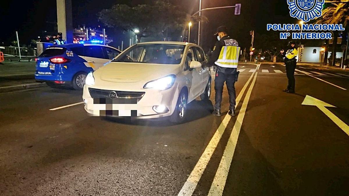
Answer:
[[[189,88],[189,97],[188,100],[192,101],[196,99],[200,95],[201,91],[201,83],[202,83],[202,75],[200,73],[199,68],[198,69],[190,69],[190,63],[192,61],[195,61],[195,53],[194,53],[194,47],[189,48],[187,55],[186,55],[186,61],[185,61],[185,75],[187,80],[189,81],[190,86]]]

